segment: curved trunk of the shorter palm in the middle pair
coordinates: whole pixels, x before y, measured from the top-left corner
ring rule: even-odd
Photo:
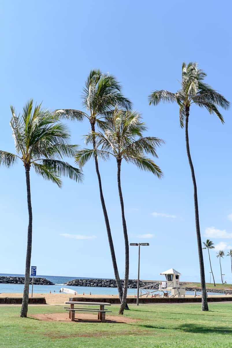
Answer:
[[[119,309],[118,314],[123,314],[125,306],[126,306],[126,300],[127,300],[127,288],[128,288],[128,280],[129,280],[129,242],[128,242],[128,235],[127,235],[127,224],[125,219],[125,213],[124,213],[124,203],[123,203],[123,197],[122,197],[122,189],[121,189],[121,159],[117,159],[117,165],[118,165],[118,192],[119,192],[119,199],[121,204],[121,212],[122,212],[122,228],[123,228],[123,234],[124,234],[124,240],[125,240],[125,279],[124,279],[124,287],[123,287],[123,295],[122,295],[122,302]]]

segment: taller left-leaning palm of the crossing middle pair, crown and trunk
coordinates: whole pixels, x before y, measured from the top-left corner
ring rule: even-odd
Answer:
[[[97,124],[99,127],[102,126],[105,113],[111,110],[112,106],[114,107],[117,104],[125,109],[131,108],[131,102],[127,98],[125,98],[125,96],[123,96],[121,90],[121,85],[113,75],[103,74],[100,70],[91,70],[85,82],[85,88],[83,88],[82,93],[82,105],[86,108],[88,113],[74,109],[60,109],[56,110],[56,113],[59,115],[59,117],[72,121],[83,121],[85,118],[87,118],[90,122],[91,130],[95,132],[95,125]],[[93,148],[95,148],[95,139],[93,139]],[[122,300],[122,284],[119,277],[113,239],[110,229],[110,222],[103,196],[102,180],[99,172],[97,156],[94,156],[94,161],[107,237],[110,245],[114,276],[118,288],[119,298],[120,300]],[[128,309],[127,306],[126,309]]]

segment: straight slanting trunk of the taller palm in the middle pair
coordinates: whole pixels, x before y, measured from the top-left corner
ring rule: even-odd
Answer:
[[[90,122],[90,124],[91,124],[91,130],[93,132],[95,132],[95,123]],[[93,139],[93,148],[94,149],[95,149],[95,144],[96,144],[95,139]],[[104,200],[103,191],[102,191],[102,180],[101,180],[101,175],[99,172],[98,161],[97,161],[96,155],[94,156],[94,160],[95,160],[95,169],[96,169],[96,173],[97,173],[97,179],[98,179],[98,185],[99,185],[99,191],[100,191],[100,199],[101,199],[101,203],[102,203],[102,210],[103,210],[104,219],[105,219],[105,226],[106,226],[107,236],[108,236],[109,245],[110,245],[110,253],[111,253],[111,259],[112,259],[112,263],[113,263],[114,276],[115,276],[115,280],[116,280],[116,284],[117,284],[117,288],[118,288],[119,298],[120,298],[120,301],[122,302],[122,295],[123,295],[122,283],[121,283],[121,280],[119,277],[118,266],[117,266],[115,251],[114,251],[114,245],[113,245],[113,239],[112,239],[111,229],[110,229],[110,222],[109,222],[108,214],[106,211],[105,200]],[[127,309],[129,309],[129,308],[127,308]]]

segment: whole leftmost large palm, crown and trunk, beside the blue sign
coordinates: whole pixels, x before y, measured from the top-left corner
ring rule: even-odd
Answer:
[[[25,283],[23,290],[23,303],[21,317],[27,316],[30,263],[32,247],[32,206],[30,188],[30,169],[41,175],[45,180],[51,180],[61,187],[61,175],[70,177],[75,181],[82,180],[82,171],[62,161],[62,157],[73,157],[78,146],[71,145],[70,133],[65,125],[58,122],[57,118],[47,109],[42,109],[41,104],[35,105],[33,100],[27,102],[23,108],[22,116],[16,116],[13,106],[10,106],[12,118],[10,126],[13,130],[15,149],[17,155],[0,151],[0,165],[10,167],[21,160],[26,174],[27,207],[29,224],[27,230],[27,249]]]

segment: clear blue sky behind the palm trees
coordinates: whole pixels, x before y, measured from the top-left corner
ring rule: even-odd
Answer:
[[[176,105],[149,106],[154,89],[178,89],[183,61],[197,61],[207,82],[231,98],[231,4],[229,1],[3,1],[0,9],[0,149],[14,151],[9,126],[13,104],[19,112],[33,97],[49,109],[81,109],[81,91],[90,69],[114,74],[123,92],[143,113],[147,134],[166,144],[157,164],[158,180],[133,165],[122,165],[122,190],[130,242],[149,242],[141,250],[141,278],[157,279],[175,268],[182,280],[199,280],[193,188],[184,130]],[[231,111],[225,125],[205,110],[192,108],[190,147],[199,192],[202,239],[226,250],[232,245]],[[70,124],[72,142],[83,144],[89,124]],[[31,171],[33,207],[32,265],[38,274],[113,277],[106,229],[93,163],[85,182],[63,180],[63,188]],[[116,164],[101,163],[103,189],[120,275],[124,242]],[[25,269],[27,205],[21,164],[0,168],[0,272]],[[152,213],[157,213],[153,214]],[[230,219],[231,217],[231,219]],[[95,236],[74,239],[60,234]],[[140,235],[152,237],[139,237]],[[219,246],[220,247],[220,246]],[[231,246],[232,248],[232,246]],[[72,253],[70,252],[72,250]],[[74,253],[73,253],[74,251]],[[130,278],[137,277],[137,248],[130,248]],[[208,255],[205,255],[209,280]],[[219,260],[211,252],[220,280]],[[230,259],[222,260],[227,283]]]

